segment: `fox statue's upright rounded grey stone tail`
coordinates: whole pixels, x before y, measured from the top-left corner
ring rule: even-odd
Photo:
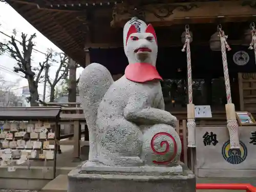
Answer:
[[[99,63],[91,63],[81,73],[78,88],[80,101],[89,130],[90,153],[89,161],[97,161],[97,112],[106,91],[114,82],[111,73]]]

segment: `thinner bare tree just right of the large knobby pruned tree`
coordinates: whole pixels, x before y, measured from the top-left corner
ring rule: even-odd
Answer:
[[[49,75],[47,75],[47,82],[50,84],[50,102],[53,102],[55,99],[55,86],[61,79],[66,79],[68,77],[69,72],[69,63],[68,56],[63,53],[58,54],[60,57],[59,67],[56,71],[56,76],[53,81],[50,80]],[[50,67],[50,66],[47,66]]]

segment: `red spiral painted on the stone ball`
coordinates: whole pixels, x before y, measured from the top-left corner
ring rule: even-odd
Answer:
[[[174,139],[174,137],[168,133],[165,133],[165,132],[160,132],[160,133],[157,133],[153,136],[153,138],[151,139],[151,148],[153,150],[153,152],[157,155],[165,155],[169,149],[170,149],[170,144],[168,143],[168,141],[161,141],[160,143],[160,146],[163,147],[163,145],[165,144],[166,145],[166,148],[163,152],[158,152],[156,151],[155,149],[155,146],[154,146],[154,141],[157,137],[159,136],[168,136],[169,138],[171,138],[173,140],[173,143],[174,143],[174,154],[172,155],[172,157],[170,157],[167,161],[153,161],[153,163],[155,164],[169,164],[172,160],[174,160],[176,154],[177,154],[177,151],[178,151],[178,148],[177,148],[177,143]]]

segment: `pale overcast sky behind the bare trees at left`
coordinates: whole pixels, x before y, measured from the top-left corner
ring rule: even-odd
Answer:
[[[22,16],[20,16],[11,6],[8,4],[0,2],[0,31],[6,33],[7,35],[12,35],[13,29],[17,31],[17,39],[20,40],[21,33],[26,33],[31,35],[36,33],[37,37],[35,38],[36,46],[34,47],[36,50],[46,53],[47,49],[53,49],[54,51],[61,52],[61,50],[56,47],[50,40],[48,40],[44,35],[42,35],[39,31],[37,31],[32,25],[30,25]],[[10,38],[0,33],[0,41],[9,40]],[[33,51],[32,53],[32,66],[38,66],[39,62],[44,61],[45,55],[42,53],[38,53]],[[20,77],[15,74],[13,71],[13,67],[16,65],[16,61],[8,54],[0,56],[0,74],[4,76],[6,81],[13,82],[13,90],[16,89],[17,95],[22,95],[22,87],[28,86],[27,79]],[[57,70],[57,64],[50,68],[50,78],[53,79],[55,77],[55,71]],[[81,73],[82,68],[78,68],[77,75]],[[20,75],[23,75],[20,73]],[[15,83],[17,80],[18,83]],[[49,87],[49,86],[48,86]],[[18,89],[21,88],[21,89]],[[44,90],[44,83],[40,83],[38,86],[39,94],[42,95]]]

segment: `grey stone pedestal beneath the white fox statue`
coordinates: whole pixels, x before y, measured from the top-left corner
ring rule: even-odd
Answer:
[[[87,169],[87,170],[86,170]],[[80,166],[68,175],[68,192],[196,192],[196,178],[180,167]]]

